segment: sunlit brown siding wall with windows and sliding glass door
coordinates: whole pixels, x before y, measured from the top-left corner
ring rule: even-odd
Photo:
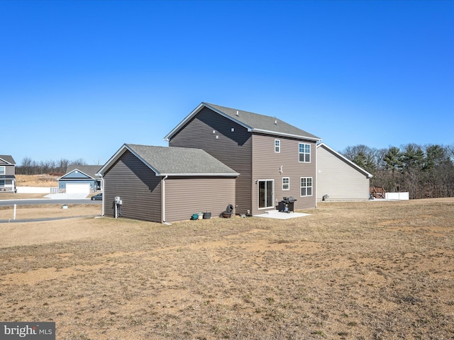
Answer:
[[[275,140],[280,140],[280,152],[275,152]],[[299,143],[311,145],[311,162],[299,162]],[[279,170],[282,166],[282,174]],[[282,190],[282,178],[289,177],[289,190]],[[300,196],[301,177],[312,177],[312,196]],[[316,206],[316,145],[315,142],[296,140],[270,135],[253,135],[253,215],[269,209],[258,208],[259,180],[274,180],[275,206],[284,196],[297,199],[294,209],[315,208]],[[273,208],[274,209],[274,208]]]

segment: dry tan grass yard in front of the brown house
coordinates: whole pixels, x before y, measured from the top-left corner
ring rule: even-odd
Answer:
[[[57,339],[454,339],[454,199],[304,212],[0,224],[0,320]]]

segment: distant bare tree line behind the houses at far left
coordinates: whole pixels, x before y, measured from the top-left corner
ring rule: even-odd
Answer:
[[[60,174],[64,175],[70,165],[87,165],[84,159],[60,159],[59,161],[41,161],[36,162],[26,157],[22,160],[21,165],[16,166],[18,175],[40,175],[40,174]]]

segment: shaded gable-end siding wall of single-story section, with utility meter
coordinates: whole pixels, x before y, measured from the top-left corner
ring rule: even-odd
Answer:
[[[123,200],[123,217],[162,222],[161,178],[126,151],[104,174],[104,215],[114,216],[114,198]]]

